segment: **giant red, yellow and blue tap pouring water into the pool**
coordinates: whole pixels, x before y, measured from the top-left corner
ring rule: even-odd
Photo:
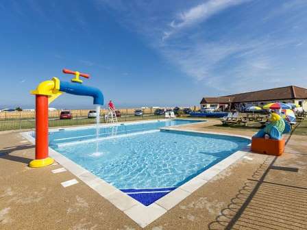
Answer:
[[[53,77],[49,81],[42,81],[36,90],[31,93],[36,95],[36,149],[35,159],[29,163],[30,167],[38,168],[53,164],[53,159],[49,157],[48,151],[48,106],[49,103],[58,98],[63,92],[79,96],[93,97],[93,104],[103,105],[103,94],[98,88],[82,85],[79,77],[89,78],[86,73],[69,71],[63,69],[63,73],[75,75],[71,82],[60,81],[58,77]],[[97,116],[97,133],[99,134],[99,116]]]

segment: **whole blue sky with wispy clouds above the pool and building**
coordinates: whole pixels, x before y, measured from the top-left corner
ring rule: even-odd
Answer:
[[[34,107],[29,90],[62,68],[90,73],[121,107],[197,105],[201,97],[307,88],[305,0],[4,0],[0,107]],[[92,107],[64,94],[50,106]]]

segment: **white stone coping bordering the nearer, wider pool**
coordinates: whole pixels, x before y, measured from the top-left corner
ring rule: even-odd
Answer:
[[[168,129],[160,128],[160,129]],[[241,138],[247,138],[251,140],[248,136],[241,135],[233,135],[229,133],[215,133],[210,131],[194,131],[194,130],[181,130],[173,128],[169,128],[172,131],[184,131],[191,133],[208,133],[208,134],[216,134],[221,136],[236,136]],[[35,144],[35,139],[29,135],[31,131],[22,132],[21,136]],[[154,203],[151,203],[149,206],[145,206],[142,203],[139,203],[132,197],[128,196],[121,190],[115,188],[110,183],[104,181],[103,179],[97,177],[92,172],[86,170],[79,164],[73,162],[71,159],[65,157],[64,155],[58,153],[57,151],[51,149],[49,147],[49,155],[53,157],[59,164],[61,164],[64,168],[69,170],[73,175],[75,175],[78,179],[86,183],[87,186],[95,190],[99,195],[103,196],[103,198],[107,199],[110,203],[112,203],[115,207],[124,212],[127,216],[129,216],[134,222],[136,222],[140,227],[146,227],[154,220],[158,219],[160,216],[168,212],[171,208],[175,207],[178,203],[186,199],[187,196],[204,186],[210,179],[219,175],[220,172],[234,164],[238,159],[241,159],[247,153],[251,153],[250,150],[245,149],[244,151],[236,151],[232,153],[232,155],[226,157],[221,160],[221,162],[215,164],[214,166],[204,170],[193,179],[186,181],[182,186],[179,186],[172,192],[169,192],[167,195],[158,199]]]

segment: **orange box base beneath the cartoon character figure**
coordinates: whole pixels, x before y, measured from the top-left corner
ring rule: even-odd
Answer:
[[[284,140],[251,138],[251,151],[279,156],[284,153]]]

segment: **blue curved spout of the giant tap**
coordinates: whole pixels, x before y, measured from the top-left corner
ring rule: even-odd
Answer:
[[[103,105],[103,94],[98,88],[60,81],[60,91],[74,95],[90,96],[93,97],[95,105]]]

